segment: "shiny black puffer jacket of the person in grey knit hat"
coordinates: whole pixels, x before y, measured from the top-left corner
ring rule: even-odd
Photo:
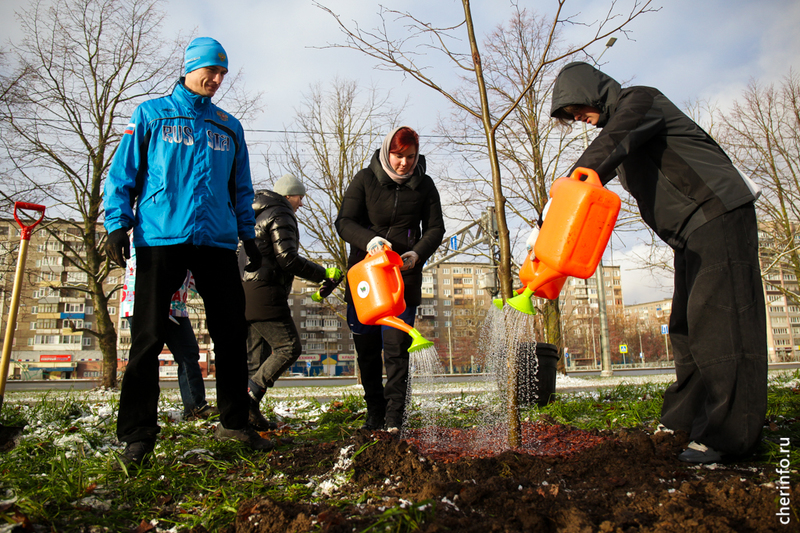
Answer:
[[[325,278],[325,268],[299,255],[297,218],[284,196],[258,191],[253,210],[262,259],[257,271],[242,271],[245,316],[249,322],[285,318],[291,315],[288,298],[294,277],[320,282]],[[240,253],[239,257],[243,267],[246,255]],[[241,261],[243,257],[245,261]]]

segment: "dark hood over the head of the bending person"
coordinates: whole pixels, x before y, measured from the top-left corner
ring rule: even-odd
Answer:
[[[600,110],[597,127],[608,122],[611,107],[616,103],[622,86],[607,74],[588,63],[569,63],[556,77],[550,116],[568,105],[589,105]]]

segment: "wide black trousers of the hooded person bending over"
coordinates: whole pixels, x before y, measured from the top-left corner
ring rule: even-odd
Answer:
[[[661,422],[733,456],[758,443],[767,409],[767,322],[753,204],[675,251],[669,333],[677,381]]]

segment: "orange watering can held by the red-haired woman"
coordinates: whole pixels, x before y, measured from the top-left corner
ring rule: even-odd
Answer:
[[[433,346],[419,331],[398,315],[406,310],[403,299],[403,260],[397,252],[387,250],[367,256],[347,272],[347,283],[353,297],[356,315],[362,324],[391,326],[405,331],[413,339],[409,352]]]

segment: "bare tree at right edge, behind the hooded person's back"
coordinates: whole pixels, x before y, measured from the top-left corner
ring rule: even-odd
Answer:
[[[722,113],[720,143],[734,162],[762,187],[756,202],[760,239],[770,263],[768,290],[800,303],[796,283],[774,281],[788,270],[800,279],[800,76],[789,74],[776,87],[753,81],[728,113]]]

